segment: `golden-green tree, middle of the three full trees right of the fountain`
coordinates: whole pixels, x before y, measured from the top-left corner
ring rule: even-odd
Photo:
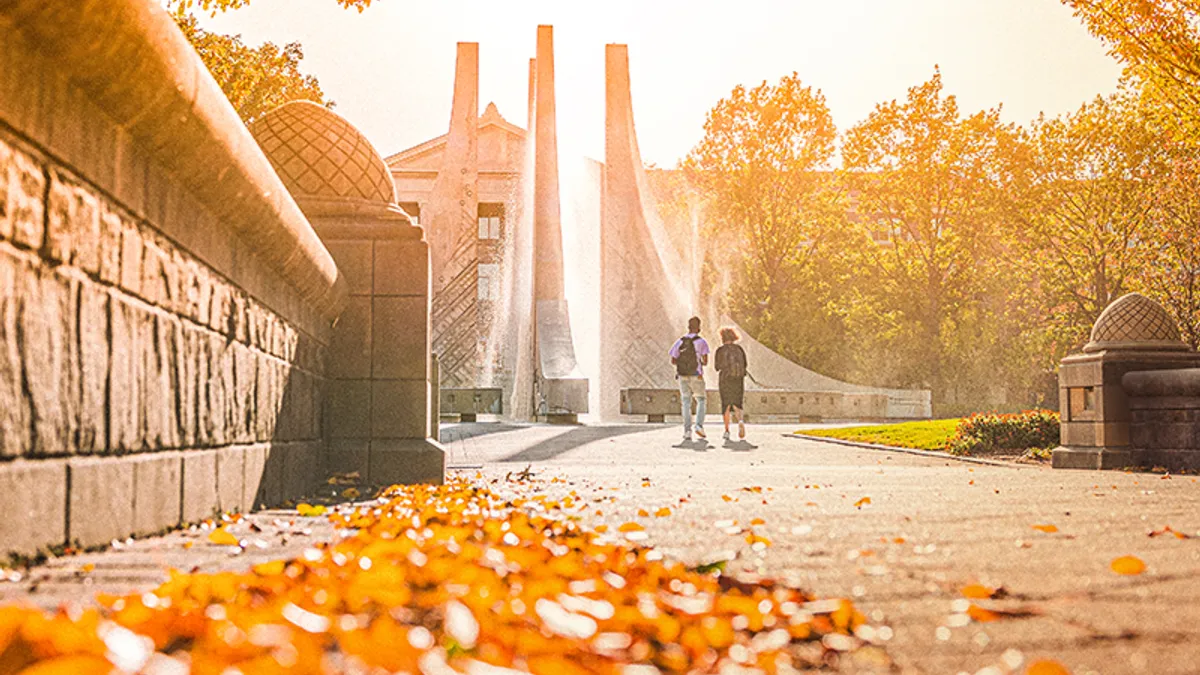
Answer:
[[[1006,310],[997,265],[1013,133],[998,108],[964,117],[935,70],[845,137],[864,241],[852,323],[882,340],[872,356],[896,364],[894,384],[931,387],[935,402],[989,398],[980,389],[995,382],[971,375],[1000,342]]]

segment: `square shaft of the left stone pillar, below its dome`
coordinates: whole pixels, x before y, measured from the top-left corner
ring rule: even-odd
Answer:
[[[421,229],[398,208],[311,220],[350,286],[329,354],[329,466],[371,483],[440,483]]]

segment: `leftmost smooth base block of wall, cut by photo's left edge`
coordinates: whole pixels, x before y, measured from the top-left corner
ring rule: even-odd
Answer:
[[[0,555],[67,540],[66,460],[0,464]]]

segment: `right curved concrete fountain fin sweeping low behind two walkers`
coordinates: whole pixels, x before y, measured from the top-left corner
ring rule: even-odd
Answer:
[[[683,280],[683,262],[670,244],[646,180],[630,95],[629,50],[624,44],[605,48],[606,110],[604,205],[600,232],[601,305],[600,414],[619,413],[622,389],[673,389],[674,369],[667,350],[684,331],[692,311],[704,319],[704,331],[715,351],[720,325],[736,325],[728,317],[695,310],[696,299]],[[721,323],[715,323],[720,319]],[[761,384],[749,389],[787,392],[840,392],[883,394],[887,417],[928,417],[929,392],[882,389],[841,382],[814,372],[762,345],[744,330],[742,345],[750,372]],[[707,369],[709,386],[716,384]]]

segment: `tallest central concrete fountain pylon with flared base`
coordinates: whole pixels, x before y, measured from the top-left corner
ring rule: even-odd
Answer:
[[[539,417],[574,418],[588,410],[588,381],[580,372],[563,283],[563,223],[558,191],[554,110],[554,29],[538,26],[534,129],[534,363]]]

